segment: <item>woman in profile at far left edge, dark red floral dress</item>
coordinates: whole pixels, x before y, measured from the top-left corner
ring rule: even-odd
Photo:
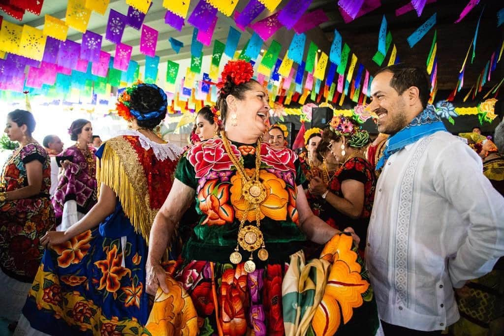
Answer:
[[[54,226],[49,199],[49,156],[31,133],[33,115],[15,110],[5,132],[19,148],[7,160],[0,179],[0,317],[17,321],[37,273],[43,247],[39,240]]]

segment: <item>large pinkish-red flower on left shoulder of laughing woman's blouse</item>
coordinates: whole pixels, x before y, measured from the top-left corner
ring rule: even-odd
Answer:
[[[239,160],[240,151],[234,145],[230,147]],[[230,170],[233,166],[219,138],[191,147],[187,151],[187,160],[194,166],[197,178],[207,175],[210,170]]]

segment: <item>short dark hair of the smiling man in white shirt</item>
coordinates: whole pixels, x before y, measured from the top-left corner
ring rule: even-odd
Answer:
[[[410,66],[405,63],[397,63],[380,69],[374,74],[374,77],[386,71],[393,74],[390,80],[390,86],[393,87],[397,93],[402,95],[408,88],[412,86],[417,87],[422,107],[427,107],[430,95],[430,83],[424,69],[418,66]]]

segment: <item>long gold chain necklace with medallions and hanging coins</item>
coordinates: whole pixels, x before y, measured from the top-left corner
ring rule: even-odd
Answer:
[[[259,259],[265,261],[268,259],[268,251],[266,250],[266,244],[264,242],[263,233],[261,232],[261,203],[266,199],[266,187],[259,180],[259,168],[261,167],[261,141],[258,140],[256,148],[256,170],[254,171],[254,176],[249,177],[243,165],[238,161],[238,158],[231,151],[230,142],[226,138],[224,131],[221,131],[222,142],[226,150],[227,155],[231,159],[231,162],[236,168],[237,173],[241,176],[243,182],[241,194],[247,203],[247,208],[243,212],[243,216],[240,220],[240,226],[238,228],[238,244],[234,249],[234,252],[229,255],[229,260],[238,264],[241,262],[241,253],[239,252],[239,247],[250,252],[250,257],[245,262],[244,268],[245,272],[252,273],[256,270],[256,263],[254,262],[254,251],[259,249],[258,257]],[[245,226],[245,221],[249,211],[255,211],[256,215],[256,226],[247,225]]]

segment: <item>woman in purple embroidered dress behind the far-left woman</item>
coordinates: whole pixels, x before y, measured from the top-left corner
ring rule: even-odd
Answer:
[[[56,230],[65,231],[96,204],[96,156],[93,127],[86,119],[77,119],[68,129],[76,144],[56,156],[60,167],[59,182],[52,197]]]

